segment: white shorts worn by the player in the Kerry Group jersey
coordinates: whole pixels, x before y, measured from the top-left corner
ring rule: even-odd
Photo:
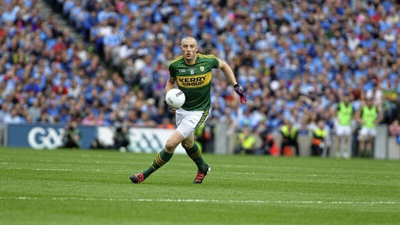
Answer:
[[[176,109],[176,130],[186,139],[208,118],[209,110],[186,111],[183,108]]]

